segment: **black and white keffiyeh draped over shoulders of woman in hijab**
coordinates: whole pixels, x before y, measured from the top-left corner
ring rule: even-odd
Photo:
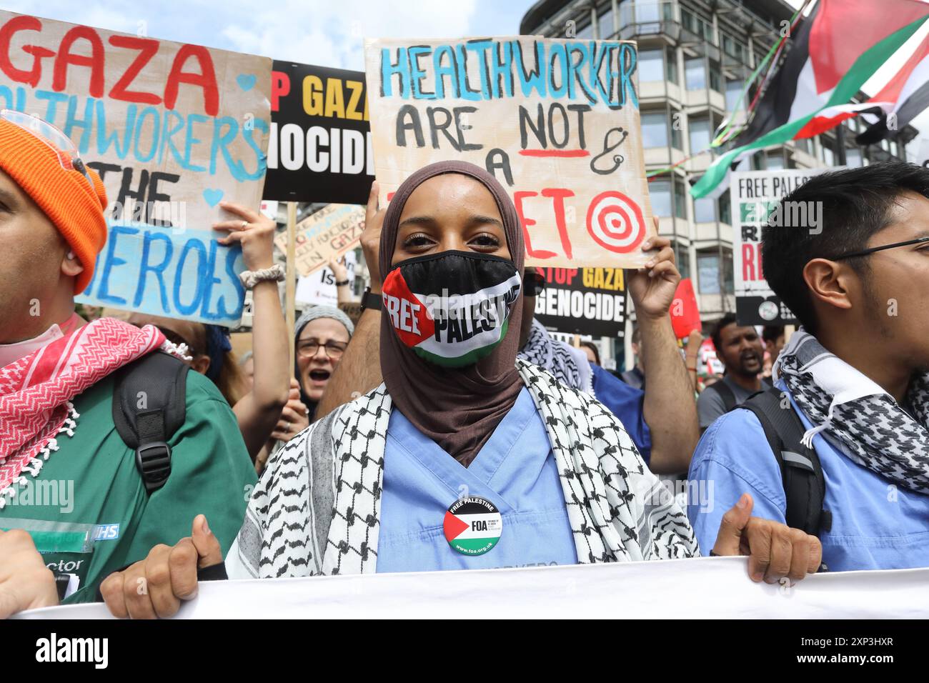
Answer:
[[[699,556],[687,515],[608,408],[534,365],[517,369],[556,458],[578,562]],[[226,557],[230,578],[376,571],[390,411],[382,384],[271,456]]]

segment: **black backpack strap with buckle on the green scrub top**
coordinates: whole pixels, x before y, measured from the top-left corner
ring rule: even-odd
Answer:
[[[155,351],[116,374],[113,424],[125,445],[135,450],[138,473],[148,493],[164,486],[171,474],[167,442],[186,418],[189,369],[184,361]]]

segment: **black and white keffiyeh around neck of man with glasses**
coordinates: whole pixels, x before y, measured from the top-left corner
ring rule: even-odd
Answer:
[[[860,466],[916,493],[929,493],[929,374],[913,377],[913,419],[883,388],[837,358],[802,328],[780,352],[783,378],[809,421],[804,445],[826,432]]]

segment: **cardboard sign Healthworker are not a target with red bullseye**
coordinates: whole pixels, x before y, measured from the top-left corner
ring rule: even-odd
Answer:
[[[634,43],[378,39],[365,61],[382,205],[418,168],[460,159],[510,192],[527,264],[648,260]]]

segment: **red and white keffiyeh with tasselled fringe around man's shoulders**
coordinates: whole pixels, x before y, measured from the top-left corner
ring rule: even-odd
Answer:
[[[0,508],[23,471],[34,477],[58,450],[60,433],[73,436],[73,398],[163,344],[156,327],[100,318],[0,368]]]

